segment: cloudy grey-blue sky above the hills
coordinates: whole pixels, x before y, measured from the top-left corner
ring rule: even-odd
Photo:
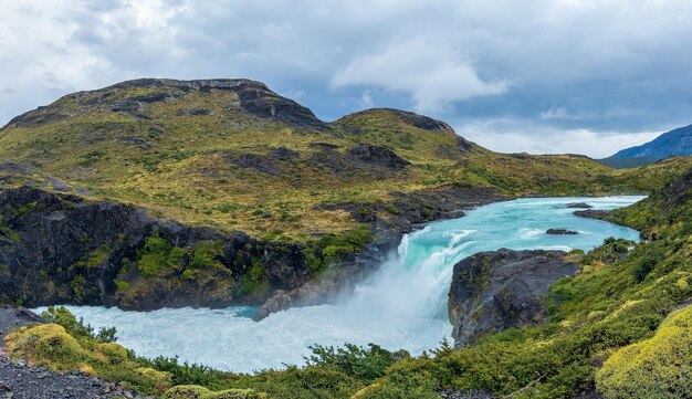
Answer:
[[[692,124],[689,0],[0,0],[0,125],[137,77],[249,77],[325,120],[411,109],[602,157]]]

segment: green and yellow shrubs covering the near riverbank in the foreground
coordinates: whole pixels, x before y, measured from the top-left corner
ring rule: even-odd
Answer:
[[[686,195],[684,190],[675,192]],[[551,288],[545,300],[548,323],[489,335],[472,346],[442,344],[420,357],[375,345],[317,346],[304,367],[252,375],[179,364],[177,359],[139,359],[132,354],[119,360],[115,374],[108,366],[111,360],[99,360],[111,358],[97,355],[101,349],[95,338],[80,336],[78,328],[72,328],[77,337],[55,327],[42,327],[45,332],[23,328],[8,338],[8,347],[11,354],[56,369],[84,364],[95,375],[129,381],[145,391],[164,391],[151,377],[144,379],[145,374],[168,386],[197,386],[169,391],[171,398],[188,391],[216,398],[227,395],[224,390],[238,389],[286,399],[434,398],[447,389],[546,399],[573,398],[594,389],[608,398],[685,397],[692,393],[692,307],[673,312],[692,297],[692,202],[686,197],[671,197],[675,192],[657,192],[614,213],[612,218],[621,220],[657,216],[652,222],[646,219],[651,224],[638,227],[656,231],[658,240],[632,243],[608,239],[585,254],[579,261],[581,273]],[[55,321],[64,319],[67,325],[74,323],[70,317]],[[43,339],[44,334],[51,339]],[[59,345],[52,347],[50,343]]]

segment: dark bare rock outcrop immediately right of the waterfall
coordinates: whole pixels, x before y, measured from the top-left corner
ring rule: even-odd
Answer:
[[[484,334],[546,319],[542,297],[559,279],[574,275],[576,263],[562,251],[480,252],[454,265],[449,318],[457,346]]]

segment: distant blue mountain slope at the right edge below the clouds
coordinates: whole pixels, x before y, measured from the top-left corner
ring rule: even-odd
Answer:
[[[692,155],[692,125],[670,130],[641,146],[626,148],[600,159],[614,168],[632,168],[653,164],[667,157]]]

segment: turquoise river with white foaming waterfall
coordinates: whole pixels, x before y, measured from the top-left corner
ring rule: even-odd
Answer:
[[[146,357],[179,356],[237,372],[303,364],[313,344],[376,343],[413,355],[451,334],[447,294],[452,266],[480,251],[500,248],[589,250],[608,237],[638,240],[631,229],[578,218],[568,202],[614,209],[642,197],[542,198],[493,203],[466,217],[430,223],[403,237],[398,253],[337,305],[292,308],[255,323],[252,308],[160,309],[69,306],[94,327],[116,326],[122,345]],[[577,235],[548,235],[551,228]],[[42,309],[41,309],[42,311]]]

